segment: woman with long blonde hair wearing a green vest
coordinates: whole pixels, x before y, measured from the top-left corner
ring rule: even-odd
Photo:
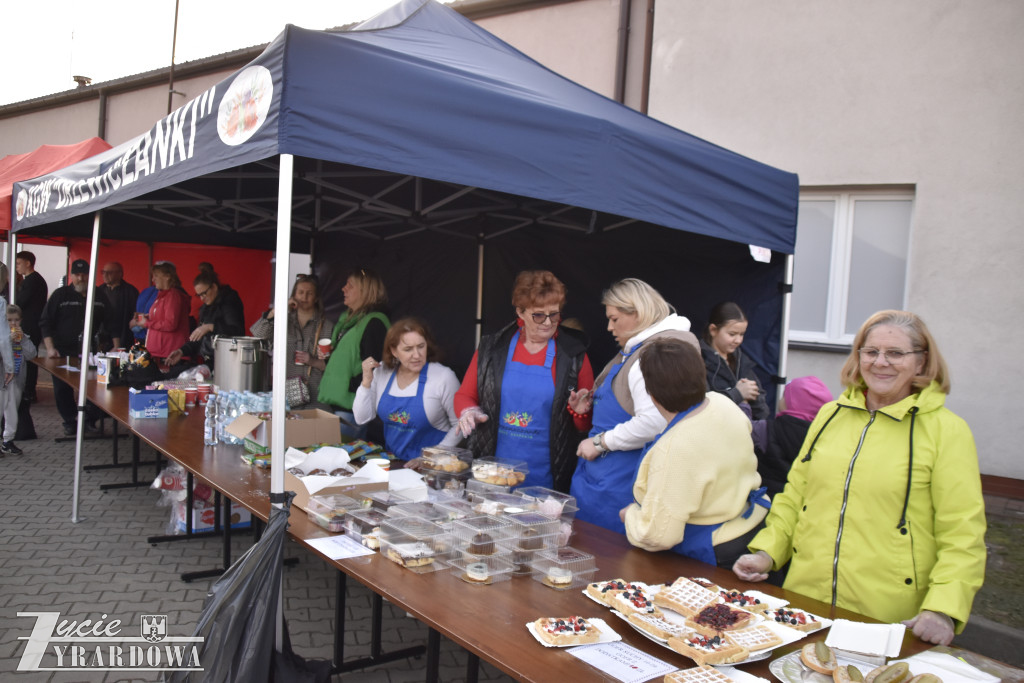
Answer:
[[[328,358],[317,400],[334,407],[341,418],[342,436],[355,439],[367,433],[367,426],[356,423],[352,415],[355,390],[362,381],[362,359],[381,357],[391,323],[384,312],[387,290],[376,272],[368,268],[352,272],[341,293],[348,310],[331,333],[330,357],[318,349],[316,352],[317,357]]]

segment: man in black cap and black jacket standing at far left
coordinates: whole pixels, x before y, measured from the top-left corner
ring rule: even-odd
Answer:
[[[71,284],[53,290],[43,314],[39,318],[46,355],[50,358],[75,356],[82,352],[82,334],[85,332],[86,292],[89,288],[89,264],[77,259],[71,264]],[[92,307],[93,332],[103,330],[105,306],[96,297]],[[84,365],[84,364],[83,364]],[[53,381],[53,402],[63,420],[65,434],[73,436],[78,429],[78,403],[75,390],[59,380]],[[86,412],[86,431],[95,431],[96,409]]]

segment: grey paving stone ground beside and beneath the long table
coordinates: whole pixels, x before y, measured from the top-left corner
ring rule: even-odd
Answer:
[[[43,374],[45,377],[45,373]],[[183,571],[218,566],[221,541],[191,540],[151,545],[146,539],[165,532],[170,509],[158,507],[160,494],[147,487],[100,492],[99,484],[126,481],[130,469],[83,472],[80,521],[73,523],[74,441],[56,443],[60,420],[47,387],[32,414],[39,438],[18,442],[23,456],[0,459],[0,681],[12,683],[78,681],[159,681],[160,675],[86,672],[19,673],[24,643],[34,625],[18,611],[59,611],[61,618],[121,618],[124,633],[135,635],[142,614],[167,614],[171,635],[191,635],[212,579],[184,583]],[[108,421],[106,430],[111,426]],[[130,441],[121,440],[121,460],[130,459]],[[142,460],[153,460],[143,444]],[[111,441],[88,440],[83,464],[111,462]],[[150,466],[140,479],[152,481]],[[252,544],[248,532],[232,539],[232,556]],[[292,645],[306,658],[330,659],[334,642],[336,570],[312,553],[288,542],[287,557],[298,563],[285,568],[284,599]],[[345,657],[370,653],[371,591],[348,581]],[[384,603],[384,649],[426,644],[427,628]],[[441,640],[440,679],[464,681],[467,653]],[[425,657],[382,665],[336,676],[346,683],[422,681]],[[133,678],[133,676],[138,676]],[[481,681],[512,681],[481,663]]]

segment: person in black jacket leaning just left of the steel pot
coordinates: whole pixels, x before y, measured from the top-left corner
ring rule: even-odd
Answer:
[[[182,356],[194,356],[213,370],[213,338],[242,337],[246,334],[246,316],[242,297],[228,285],[221,285],[214,272],[202,271],[193,281],[196,296],[203,302],[199,307],[199,327],[188,341],[167,356],[167,365],[175,366]]]

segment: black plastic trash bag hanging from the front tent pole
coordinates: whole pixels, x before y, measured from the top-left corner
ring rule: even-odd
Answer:
[[[324,683],[330,661],[305,661],[295,654],[285,629],[282,652],[275,651],[278,601],[288,514],[295,494],[282,509],[272,508],[262,538],[239,558],[207,594],[194,636],[203,637],[203,671],[174,672],[169,683]]]

